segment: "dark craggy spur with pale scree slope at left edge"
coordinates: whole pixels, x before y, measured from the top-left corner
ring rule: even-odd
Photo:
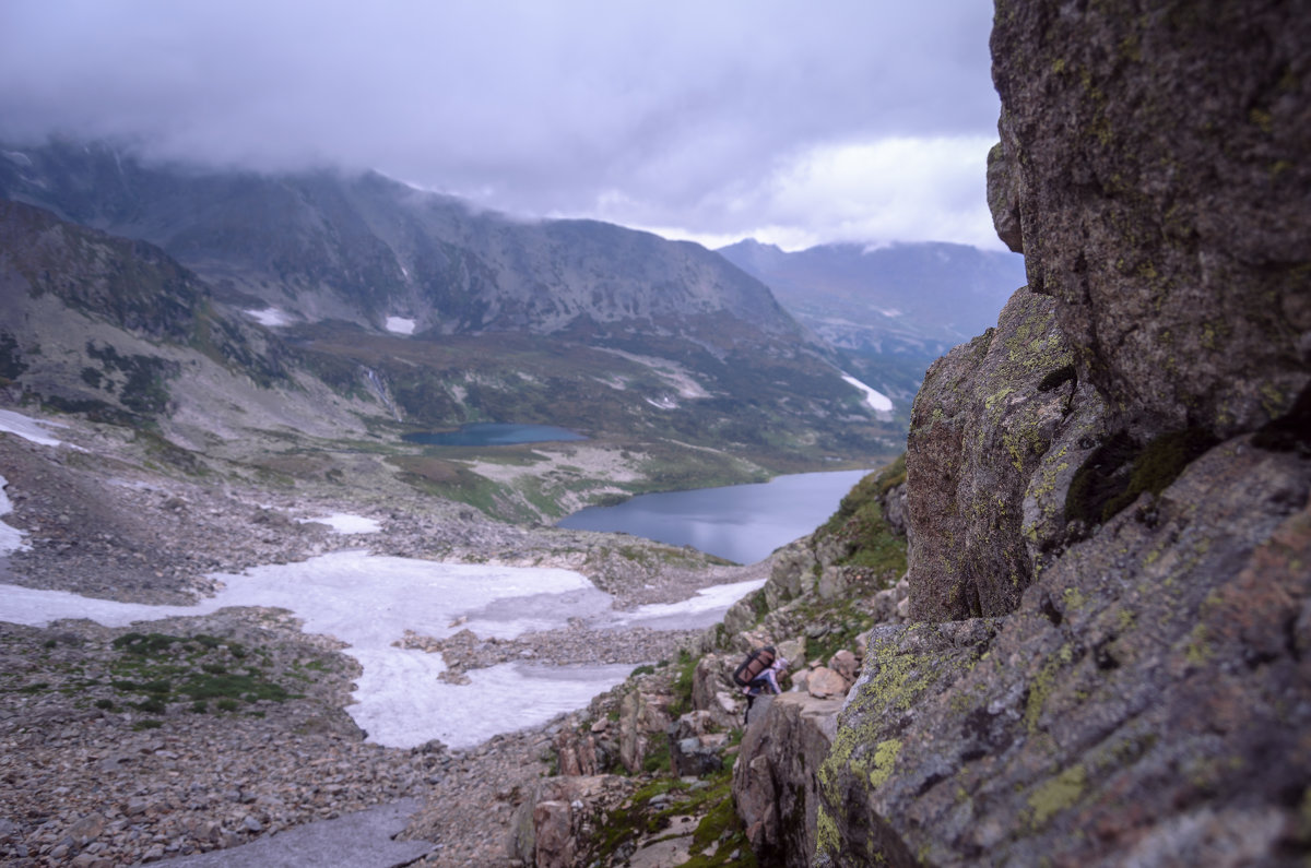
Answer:
[[[163,424],[184,442],[225,430],[235,413],[312,434],[359,431],[357,412],[368,412],[159,248],[3,199],[0,378],[47,406]]]

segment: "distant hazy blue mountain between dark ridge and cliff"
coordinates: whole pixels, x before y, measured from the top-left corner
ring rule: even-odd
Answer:
[[[931,361],[995,324],[1025,282],[1023,257],[962,244],[825,244],[787,253],[749,239],[718,253],[768,285],[826,341],[868,357]]]

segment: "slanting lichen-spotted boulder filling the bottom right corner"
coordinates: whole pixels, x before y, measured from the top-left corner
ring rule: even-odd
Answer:
[[[1311,780],[1308,494],[1311,462],[1238,438],[1012,615],[874,628],[821,775],[830,864],[1185,864],[1226,825],[1226,864],[1285,864]]]

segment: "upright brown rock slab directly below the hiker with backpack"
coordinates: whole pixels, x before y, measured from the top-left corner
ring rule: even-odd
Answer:
[[[783,694],[742,737],[733,796],[762,865],[801,865],[814,852],[817,775],[840,708],[840,696]]]

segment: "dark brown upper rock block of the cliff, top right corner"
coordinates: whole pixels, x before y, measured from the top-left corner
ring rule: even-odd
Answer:
[[[1138,437],[1286,413],[1311,361],[1306,9],[998,0],[991,45],[1029,288],[1080,380]]]

